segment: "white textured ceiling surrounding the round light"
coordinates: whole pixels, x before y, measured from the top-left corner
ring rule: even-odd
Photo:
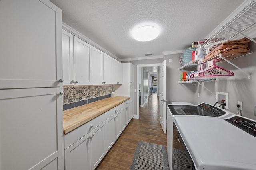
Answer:
[[[162,55],[204,39],[244,0],[50,0],[63,22],[119,59]],[[156,23],[160,35],[148,42],[132,38],[142,23]],[[150,57],[148,57],[150,58]]]

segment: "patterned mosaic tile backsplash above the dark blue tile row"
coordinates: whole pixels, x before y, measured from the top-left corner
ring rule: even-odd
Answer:
[[[63,104],[70,104],[111,94],[114,86],[64,86]]]

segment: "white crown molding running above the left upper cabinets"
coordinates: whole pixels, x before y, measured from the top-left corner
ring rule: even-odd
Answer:
[[[93,47],[99,49],[100,51],[103,51],[104,53],[110,55],[111,57],[113,57],[114,59],[120,61],[120,59],[118,57],[116,57],[114,54],[110,53],[108,50],[104,49],[103,47],[101,47],[100,45],[98,45],[97,43],[94,43],[91,39],[89,39],[88,37],[82,35],[80,32],[76,31],[75,29],[73,29],[72,27],[68,26],[66,23],[62,23],[62,28],[66,31],[68,31],[69,33],[75,35],[76,37],[82,39],[83,41],[85,41],[86,43],[92,45]]]

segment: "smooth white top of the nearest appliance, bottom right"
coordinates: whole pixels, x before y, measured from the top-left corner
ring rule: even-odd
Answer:
[[[174,122],[198,169],[256,169],[253,135],[213,117],[179,116]]]

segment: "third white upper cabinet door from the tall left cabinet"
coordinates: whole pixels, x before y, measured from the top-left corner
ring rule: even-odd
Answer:
[[[92,47],[92,84],[104,84],[103,81],[103,52]]]

